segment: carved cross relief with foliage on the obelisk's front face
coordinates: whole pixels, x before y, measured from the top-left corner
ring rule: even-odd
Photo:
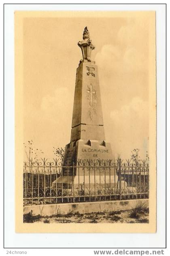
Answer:
[[[87,85],[87,100],[89,101],[88,116],[93,120],[94,114],[96,114],[97,96],[93,85]]]

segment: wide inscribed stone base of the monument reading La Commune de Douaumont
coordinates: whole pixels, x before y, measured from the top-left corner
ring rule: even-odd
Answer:
[[[57,183],[57,184],[56,184]],[[62,176],[53,187],[89,190],[117,188],[118,175],[110,143],[104,140],[77,140],[66,145]],[[126,186],[121,180],[121,186]]]

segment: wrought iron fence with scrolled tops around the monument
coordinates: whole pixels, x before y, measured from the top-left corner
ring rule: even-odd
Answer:
[[[23,165],[24,205],[148,197],[147,160],[84,160],[62,166],[44,158]]]

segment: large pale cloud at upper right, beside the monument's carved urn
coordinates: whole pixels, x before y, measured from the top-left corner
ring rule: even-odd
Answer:
[[[112,72],[146,71],[148,69],[149,32],[147,19],[127,18],[116,40],[106,44],[96,55],[103,70]]]

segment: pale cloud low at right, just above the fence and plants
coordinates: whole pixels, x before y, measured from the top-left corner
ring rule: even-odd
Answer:
[[[116,153],[123,158],[130,157],[130,151],[140,149],[145,156],[149,143],[149,105],[140,97],[132,98],[128,105],[110,112],[110,125],[113,127],[111,142]],[[111,134],[111,133],[110,133]]]

